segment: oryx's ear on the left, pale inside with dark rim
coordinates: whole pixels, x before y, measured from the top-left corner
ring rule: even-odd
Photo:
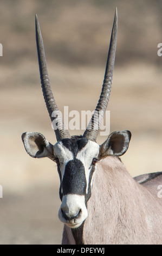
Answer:
[[[32,157],[49,157],[54,159],[53,145],[39,132],[24,132],[22,141],[25,150]]]

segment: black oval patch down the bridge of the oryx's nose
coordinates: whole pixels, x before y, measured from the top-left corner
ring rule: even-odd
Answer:
[[[86,193],[85,168],[78,159],[70,160],[65,167],[62,190],[63,196],[66,194],[85,195]]]

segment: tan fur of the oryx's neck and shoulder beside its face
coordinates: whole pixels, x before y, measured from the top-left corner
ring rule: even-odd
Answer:
[[[162,184],[159,179],[156,186],[159,182]],[[138,184],[117,157],[108,156],[94,174],[83,242],[162,243],[162,198],[156,192],[151,186]]]

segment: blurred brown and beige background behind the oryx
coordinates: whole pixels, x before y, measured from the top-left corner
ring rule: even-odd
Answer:
[[[56,142],[43,100],[35,42],[38,14],[48,72],[60,110],[93,111],[98,102],[118,7],[118,44],[108,110],[111,132],[130,130],[121,157],[137,176],[161,171],[161,0],[35,0],[0,3],[0,243],[59,244],[59,175],[49,159],[33,159],[21,135],[41,132]],[[70,131],[82,134],[83,131]],[[98,143],[106,137],[99,136]]]

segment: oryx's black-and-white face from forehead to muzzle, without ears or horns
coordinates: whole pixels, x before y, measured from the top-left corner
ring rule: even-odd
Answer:
[[[79,227],[88,215],[86,204],[99,148],[97,143],[79,137],[63,139],[54,145],[62,200],[59,218],[71,228]]]

